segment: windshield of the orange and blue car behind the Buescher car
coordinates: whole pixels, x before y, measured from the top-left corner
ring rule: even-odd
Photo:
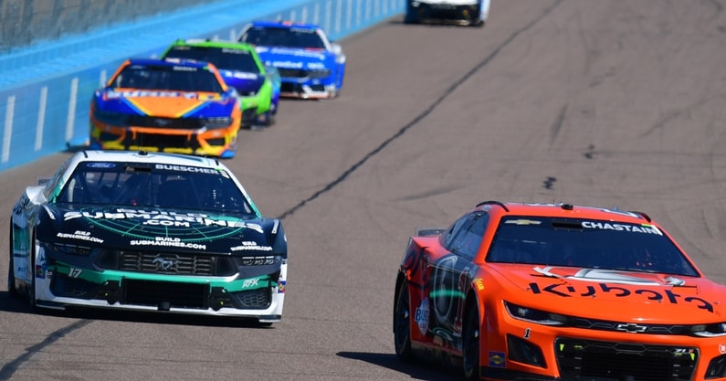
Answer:
[[[121,70],[111,88],[223,92],[212,71],[183,65],[135,65]]]

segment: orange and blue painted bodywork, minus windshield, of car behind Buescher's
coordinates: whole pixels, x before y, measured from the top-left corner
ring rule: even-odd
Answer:
[[[132,64],[124,62],[90,103],[91,148],[234,156],[242,119],[239,99],[213,65],[205,64],[205,71],[214,74],[219,92],[114,87]],[[109,106],[112,102],[117,105]],[[116,109],[100,111],[100,104]],[[224,112],[210,114],[212,107]]]

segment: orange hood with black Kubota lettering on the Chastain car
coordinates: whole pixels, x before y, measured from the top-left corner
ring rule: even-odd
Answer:
[[[605,320],[726,320],[726,288],[704,278],[626,270],[494,264],[505,300]],[[512,287],[514,286],[514,287]]]

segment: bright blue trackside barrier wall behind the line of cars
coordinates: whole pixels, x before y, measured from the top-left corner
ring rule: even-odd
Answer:
[[[254,19],[315,23],[335,40],[404,7],[405,0],[227,0],[11,52],[0,57],[0,171],[85,145],[90,97],[126,58],[157,56],[176,38],[233,39]]]

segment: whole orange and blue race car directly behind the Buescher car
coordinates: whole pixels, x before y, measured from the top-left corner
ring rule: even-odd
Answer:
[[[90,149],[234,157],[242,115],[214,64],[129,59],[90,102]]]

